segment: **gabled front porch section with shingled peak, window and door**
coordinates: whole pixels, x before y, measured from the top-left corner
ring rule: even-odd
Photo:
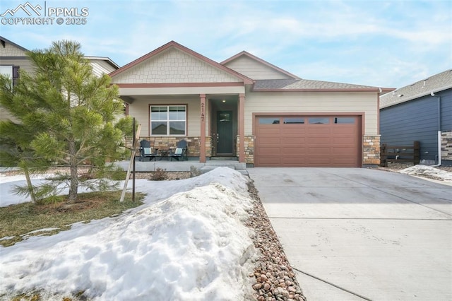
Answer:
[[[253,80],[171,41],[109,74],[153,148],[185,139],[192,160],[244,155],[245,87]]]

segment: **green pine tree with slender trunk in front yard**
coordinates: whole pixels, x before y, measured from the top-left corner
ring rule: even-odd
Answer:
[[[10,126],[27,129],[10,138],[17,144],[20,135],[26,134],[21,148],[31,154],[25,160],[28,166],[45,167],[52,162],[70,167],[68,198],[74,203],[81,184],[79,166],[104,170],[106,161],[120,158],[121,141],[131,122],[119,118],[123,104],[117,86],[110,84],[107,75],[94,75],[78,42],[54,42],[49,49],[27,55],[35,71],[20,71],[13,90],[8,90],[5,79],[0,83],[0,104],[19,120],[9,122]]]

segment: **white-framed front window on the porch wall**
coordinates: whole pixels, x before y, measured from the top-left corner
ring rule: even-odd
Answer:
[[[186,134],[186,106],[158,105],[150,107],[150,134],[169,136]]]

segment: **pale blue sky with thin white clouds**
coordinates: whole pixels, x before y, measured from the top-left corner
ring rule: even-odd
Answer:
[[[245,50],[300,78],[384,88],[452,69],[449,0],[28,2],[53,23],[23,25],[37,14],[6,11],[27,1],[2,0],[1,36],[30,50],[76,40],[119,66],[174,40],[218,62]]]

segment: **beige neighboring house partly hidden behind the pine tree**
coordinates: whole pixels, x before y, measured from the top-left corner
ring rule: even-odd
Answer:
[[[32,63],[25,55],[27,51],[28,49],[0,36],[0,73],[10,76],[15,82],[19,78],[20,69],[33,72]],[[107,57],[85,57],[85,59],[90,60],[93,72],[97,76],[119,68],[114,61]],[[0,107],[0,120],[4,119],[11,119],[11,115],[3,107]]]

